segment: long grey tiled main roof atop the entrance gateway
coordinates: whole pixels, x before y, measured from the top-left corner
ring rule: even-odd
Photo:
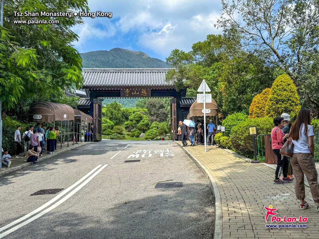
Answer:
[[[83,87],[93,86],[173,86],[165,79],[169,68],[112,69],[84,68]]]

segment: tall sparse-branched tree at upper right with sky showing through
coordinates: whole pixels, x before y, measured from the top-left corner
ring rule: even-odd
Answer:
[[[217,26],[224,37],[241,39],[238,48],[284,71],[298,87],[302,105],[318,115],[318,1],[222,0],[222,6]]]

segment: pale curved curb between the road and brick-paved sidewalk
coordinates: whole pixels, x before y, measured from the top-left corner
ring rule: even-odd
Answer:
[[[213,193],[213,198],[215,202],[215,223],[214,223],[214,239],[221,239],[222,238],[222,232],[223,232],[223,214],[222,214],[222,208],[221,208],[221,198],[219,194],[219,190],[216,184],[216,181],[214,177],[211,175],[210,171],[189,151],[187,151],[184,147],[182,147],[179,143],[175,142],[178,144],[182,150],[196,163],[197,167],[202,170],[204,175],[207,178],[207,181],[209,183],[209,186],[211,187],[211,192]]]

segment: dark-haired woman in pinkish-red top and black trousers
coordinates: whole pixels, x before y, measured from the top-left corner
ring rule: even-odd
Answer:
[[[274,184],[284,184],[284,183],[293,182],[293,179],[287,177],[288,159],[283,157],[280,154],[280,149],[284,145],[284,139],[286,139],[289,135],[289,134],[284,134],[280,129],[281,127],[284,126],[283,120],[284,118],[282,117],[276,117],[273,121],[275,127],[273,127],[273,129],[271,130],[272,151],[277,156],[277,168],[275,172]],[[279,178],[281,171],[283,172],[282,180]]]

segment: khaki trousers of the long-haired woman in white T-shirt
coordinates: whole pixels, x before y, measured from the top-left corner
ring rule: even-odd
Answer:
[[[294,153],[290,159],[293,167],[295,193],[297,199],[305,199],[304,174],[307,177],[314,202],[319,202],[318,173],[315,159],[310,153]]]

